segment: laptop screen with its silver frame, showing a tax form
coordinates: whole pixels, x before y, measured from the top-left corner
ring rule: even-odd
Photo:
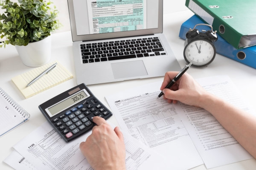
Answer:
[[[162,0],[68,0],[73,41],[162,32]]]

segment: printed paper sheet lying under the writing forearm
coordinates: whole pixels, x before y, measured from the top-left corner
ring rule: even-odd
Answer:
[[[207,77],[197,79],[197,81],[212,94],[225,99],[236,107],[249,111],[229,77]],[[208,111],[180,102],[175,105],[175,108],[207,168],[252,158]]]

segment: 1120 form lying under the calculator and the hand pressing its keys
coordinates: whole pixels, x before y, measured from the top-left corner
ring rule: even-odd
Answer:
[[[85,141],[90,133],[91,131],[66,143],[52,126],[45,122],[18,142],[14,148],[32,162],[37,170],[92,170],[79,149],[79,144]],[[129,134],[123,135],[127,170],[168,170],[162,156],[138,143]]]

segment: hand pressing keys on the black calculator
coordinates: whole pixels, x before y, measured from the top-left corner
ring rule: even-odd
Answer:
[[[95,116],[92,134],[81,142],[80,150],[94,170],[125,170],[125,144],[119,127]]]

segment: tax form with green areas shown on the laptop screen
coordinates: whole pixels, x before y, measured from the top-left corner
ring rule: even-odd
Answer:
[[[146,0],[87,0],[90,34],[146,28]]]

